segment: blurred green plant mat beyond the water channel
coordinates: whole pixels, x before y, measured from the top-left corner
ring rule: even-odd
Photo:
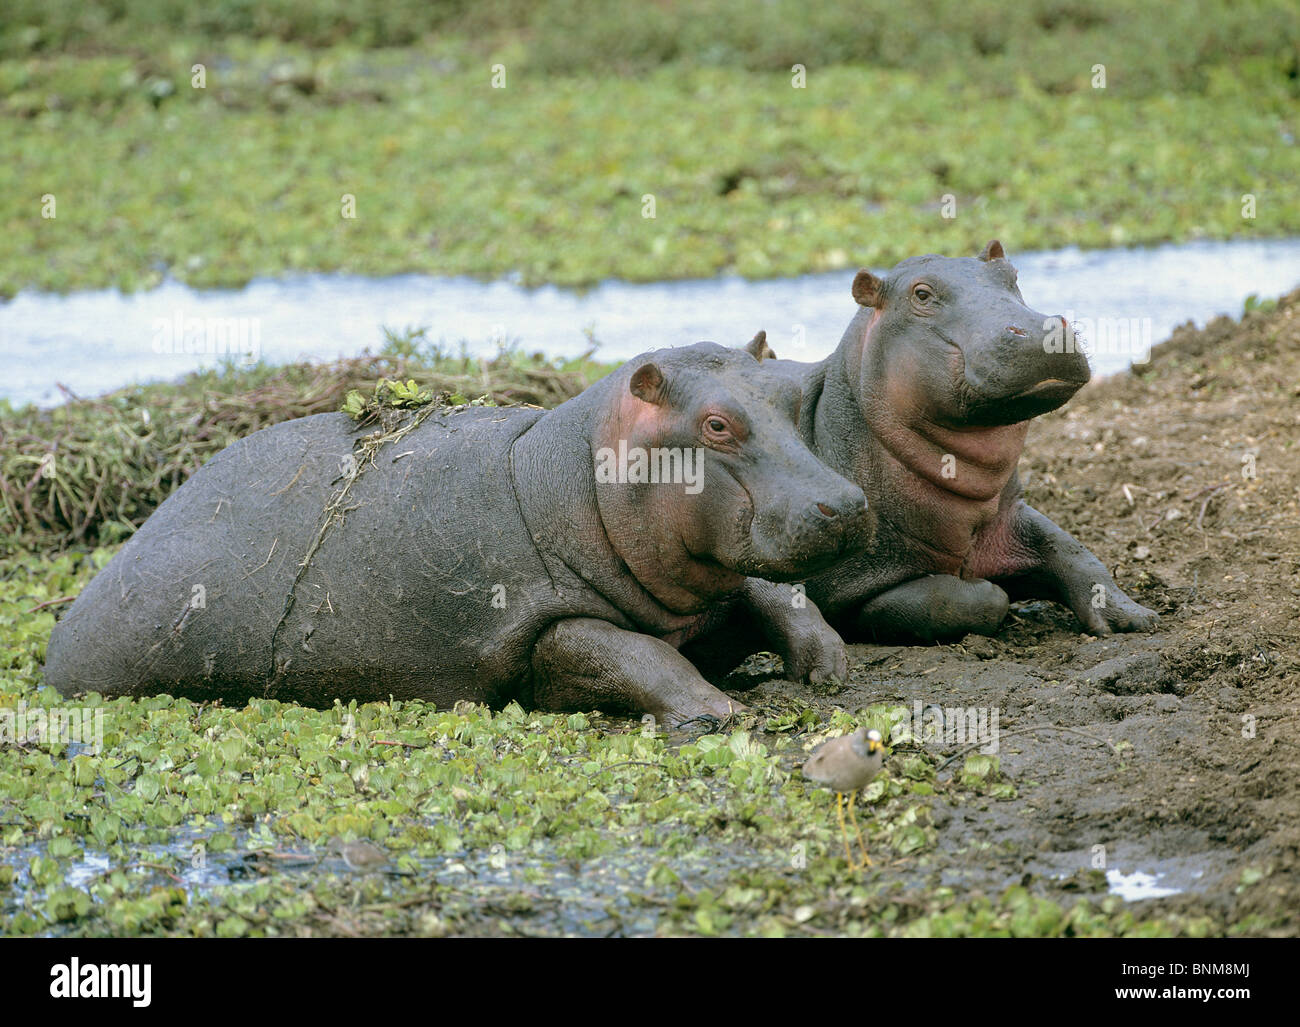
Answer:
[[[1147,35],[1131,44],[1169,53]],[[195,88],[205,46],[173,40],[165,62],[0,60],[12,155],[0,161],[0,294],[325,270],[528,286],[766,278],[974,254],[989,238],[1023,252],[1300,231],[1296,79],[1280,56],[1208,62],[1218,43],[1192,56],[1200,87],[1171,91],[1136,88],[1138,69],[1118,58],[1093,88],[1072,43],[1041,62],[1017,44],[989,79],[972,74],[983,61],[805,55],[595,77],[511,62],[495,90],[486,69],[499,58],[471,57],[463,40],[443,60],[243,39]],[[286,64],[316,84],[280,81]],[[159,74],[174,87],[161,104],[144,84]],[[1258,217],[1243,217],[1244,192]],[[56,217],[42,217],[42,196]]]

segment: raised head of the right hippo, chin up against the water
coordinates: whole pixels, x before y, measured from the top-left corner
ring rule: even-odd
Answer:
[[[1009,425],[1056,410],[1088,381],[1087,356],[1062,346],[1065,318],[1024,304],[997,240],[979,257],[911,257],[884,278],[861,270],[853,298],[863,309],[842,344],[863,399],[897,404],[905,393],[945,428]]]

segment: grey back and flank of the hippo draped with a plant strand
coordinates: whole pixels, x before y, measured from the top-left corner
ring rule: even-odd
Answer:
[[[510,476],[542,413],[438,412],[372,452],[342,413],[240,439],[84,589],[47,680],[64,694],[498,701],[552,615]]]

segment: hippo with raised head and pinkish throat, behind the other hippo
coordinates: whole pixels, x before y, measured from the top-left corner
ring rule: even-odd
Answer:
[[[861,309],[815,364],[767,360],[803,391],[800,434],[855,481],[874,541],[807,581],[850,641],[993,634],[1014,599],[1045,598],[1093,634],[1145,630],[1083,545],[1020,498],[1030,421],[1089,378],[1070,325],[1026,306],[1001,243],[859,270]],[[771,356],[759,333],[748,347]],[[764,365],[766,365],[764,364]]]

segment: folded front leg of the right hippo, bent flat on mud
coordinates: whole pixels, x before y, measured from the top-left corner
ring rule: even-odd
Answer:
[[[858,612],[855,638],[874,642],[937,642],[963,634],[994,634],[1010,599],[992,581],[927,575],[868,599]]]

